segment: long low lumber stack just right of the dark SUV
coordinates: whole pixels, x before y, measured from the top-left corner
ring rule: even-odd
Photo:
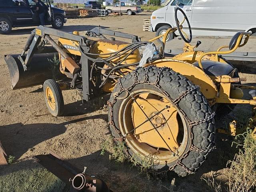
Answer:
[[[98,16],[97,11],[79,8],[64,8],[67,18],[86,18]]]

